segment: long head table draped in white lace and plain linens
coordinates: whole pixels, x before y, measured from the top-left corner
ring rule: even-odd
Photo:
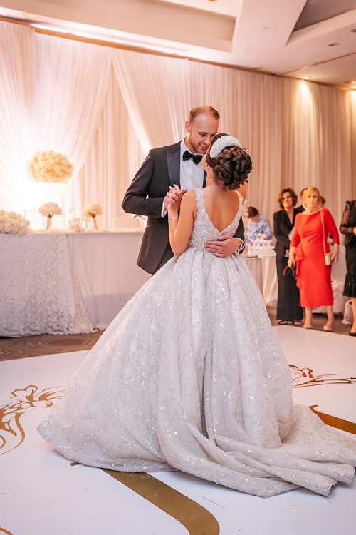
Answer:
[[[0,336],[105,328],[150,278],[140,232],[0,234]]]

